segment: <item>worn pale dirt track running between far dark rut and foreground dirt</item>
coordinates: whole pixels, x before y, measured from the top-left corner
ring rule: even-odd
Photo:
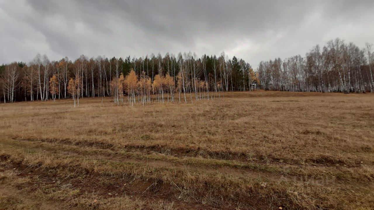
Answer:
[[[274,182],[280,181],[290,181],[296,184],[305,184],[309,177],[307,176],[294,176],[294,175],[283,175],[277,173],[270,173],[270,172],[263,172],[260,170],[254,169],[238,169],[234,167],[228,166],[196,166],[194,164],[180,164],[175,163],[168,160],[153,160],[153,159],[137,159],[137,158],[129,158],[126,155],[121,154],[102,154],[100,151],[97,151],[97,154],[90,154],[89,152],[85,151],[84,148],[80,146],[69,144],[69,146],[75,148],[76,150],[69,150],[63,148],[61,142],[46,142],[40,140],[33,140],[28,141],[25,139],[13,140],[13,141],[20,141],[18,146],[26,148],[34,148],[43,150],[43,152],[50,152],[53,154],[64,155],[64,156],[76,156],[81,158],[94,158],[98,160],[106,160],[106,161],[117,161],[117,162],[126,162],[126,163],[135,163],[135,164],[146,164],[149,168],[165,168],[165,169],[177,169],[177,170],[184,170],[191,173],[200,172],[200,173],[222,173],[225,175],[232,176],[229,179],[236,179],[240,177],[251,177],[252,179],[263,179],[272,180]],[[21,143],[22,142],[22,143]],[[12,143],[14,145],[15,142]],[[65,143],[66,145],[67,143]],[[77,152],[79,150],[79,152]],[[92,151],[91,151],[92,152]],[[313,184],[326,184],[324,179],[313,179]],[[335,182],[335,184],[346,184],[344,180],[339,180],[339,182]]]

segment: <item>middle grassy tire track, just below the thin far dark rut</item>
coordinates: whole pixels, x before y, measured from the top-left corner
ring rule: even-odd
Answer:
[[[16,145],[17,143],[14,140],[6,141],[11,145]],[[288,175],[282,174],[279,172],[264,172],[263,170],[256,169],[248,169],[245,167],[242,168],[235,168],[230,166],[217,166],[217,165],[209,165],[206,164],[203,166],[193,164],[193,163],[181,163],[184,160],[176,157],[172,157],[173,160],[177,161],[168,161],[165,160],[168,158],[168,155],[158,154],[162,157],[156,158],[148,158],[147,155],[140,156],[140,158],[136,158],[137,153],[126,152],[125,155],[118,154],[118,153],[107,153],[108,150],[104,149],[95,149],[92,147],[83,148],[81,146],[76,145],[64,145],[56,142],[43,142],[40,140],[33,140],[27,141],[24,139],[19,140],[20,143],[17,145],[21,148],[29,149],[30,147],[43,150],[42,152],[51,152],[55,154],[64,154],[68,156],[79,156],[79,157],[92,157],[95,159],[101,160],[108,160],[108,161],[117,161],[117,162],[126,162],[126,163],[136,163],[136,164],[146,164],[148,167],[152,168],[165,168],[165,169],[178,169],[178,170],[186,170],[188,172],[199,172],[199,173],[222,173],[224,175],[232,176],[230,179],[236,179],[239,177],[252,177],[254,179],[269,179],[276,182],[281,181],[292,181],[293,183],[297,184],[305,184],[309,179],[305,176],[297,176],[297,175]],[[27,144],[27,145],[25,145]],[[110,150],[109,150],[110,152]],[[140,154],[141,155],[141,154]],[[189,157],[187,157],[189,158]],[[163,160],[162,160],[163,159]],[[205,160],[205,159],[202,159]],[[188,162],[188,159],[187,161]],[[323,179],[313,179],[315,183],[324,183],[325,180]]]

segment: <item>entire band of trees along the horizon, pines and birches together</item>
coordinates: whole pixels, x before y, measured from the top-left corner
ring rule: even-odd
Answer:
[[[193,101],[227,91],[254,89],[303,92],[373,92],[372,45],[359,49],[337,38],[304,57],[262,61],[256,70],[243,59],[221,55],[166,53],[140,58],[62,58],[36,55],[29,64],[0,66],[2,102],[113,97],[117,104]],[[177,94],[177,98],[175,95]],[[154,96],[154,97],[152,97]]]

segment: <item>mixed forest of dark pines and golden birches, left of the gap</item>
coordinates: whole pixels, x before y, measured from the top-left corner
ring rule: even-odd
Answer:
[[[107,96],[118,104],[124,96],[132,105],[151,102],[153,95],[156,101],[174,102],[175,93],[187,103],[220,97],[224,91],[251,91],[259,84],[249,63],[229,59],[224,52],[200,58],[191,52],[125,59],[81,55],[75,61],[65,57],[52,62],[38,54],[28,65],[2,65],[0,75],[3,102],[73,98],[74,105],[83,97]]]

